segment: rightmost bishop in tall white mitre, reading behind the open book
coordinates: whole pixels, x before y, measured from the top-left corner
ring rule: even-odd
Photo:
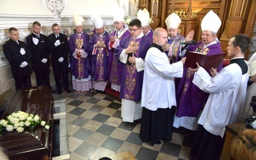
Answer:
[[[185,45],[180,49],[180,58],[187,56],[188,51],[201,52],[202,54],[213,55],[221,54],[221,44],[216,37],[216,33],[221,26],[221,20],[216,13],[208,12],[202,20],[202,42],[196,45]],[[194,31],[189,32],[186,42],[193,39]],[[222,64],[217,68],[220,71]],[[210,73],[210,70],[207,70]],[[198,117],[204,108],[205,102],[209,97],[209,93],[200,90],[192,83],[194,72],[190,68],[184,67],[183,77],[177,79],[177,112],[174,117],[173,126],[180,126],[186,129],[196,131]]]

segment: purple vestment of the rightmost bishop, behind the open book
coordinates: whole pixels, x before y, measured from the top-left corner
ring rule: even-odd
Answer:
[[[188,51],[196,51],[198,47],[204,46],[202,42],[198,42],[196,45],[189,45]],[[221,44],[212,44],[207,47],[207,55],[221,54]],[[186,56],[186,54],[185,54]],[[217,68],[219,72],[222,68],[220,65]],[[210,73],[209,70],[207,72]],[[178,78],[175,81],[177,84],[176,88],[176,100],[177,100],[177,113],[176,116],[198,116],[200,109],[204,108],[204,104],[209,97],[209,93],[205,93],[200,90],[195,84],[192,83],[194,74],[189,71],[189,68],[184,67],[182,78]]]

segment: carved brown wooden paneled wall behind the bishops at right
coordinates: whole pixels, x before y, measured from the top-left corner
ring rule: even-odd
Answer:
[[[246,33],[253,35],[256,19],[256,0],[139,0],[139,9],[147,8],[154,23],[150,24],[153,29],[166,28],[164,20],[170,13],[185,12],[180,24],[180,34],[188,35],[194,30],[195,40],[201,39],[201,22],[209,10],[217,13],[221,19],[221,27],[217,33],[221,42],[221,49],[226,52],[227,43],[231,36]],[[196,17],[195,17],[196,13]],[[247,59],[248,52],[245,58]]]

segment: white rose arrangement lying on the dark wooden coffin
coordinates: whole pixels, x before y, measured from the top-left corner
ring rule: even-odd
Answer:
[[[12,115],[7,116],[7,120],[0,120],[0,132],[6,131],[12,132],[16,129],[17,132],[23,132],[25,127],[28,127],[31,131],[36,127],[41,126],[49,130],[50,124],[42,120],[38,115],[32,115],[24,111],[13,112]]]

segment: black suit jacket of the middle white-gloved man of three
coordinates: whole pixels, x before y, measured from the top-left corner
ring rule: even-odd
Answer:
[[[26,42],[27,42],[29,51],[32,54],[32,67],[34,68],[34,70],[50,67],[50,62],[49,62],[50,52],[48,52],[46,48],[47,37],[45,35],[40,34],[39,42],[37,45],[33,43],[33,40],[32,40],[33,37],[36,38],[36,35],[33,33],[26,37]],[[46,63],[42,62],[43,58],[47,59]]]

